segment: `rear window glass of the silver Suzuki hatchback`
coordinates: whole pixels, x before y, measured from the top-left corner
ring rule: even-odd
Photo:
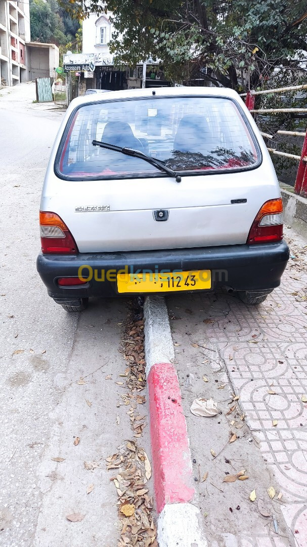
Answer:
[[[237,170],[257,164],[253,137],[237,106],[222,97],[148,97],[80,107],[70,119],[56,171],[72,179],[163,175],[143,159],[92,144],[133,148],[179,172]]]

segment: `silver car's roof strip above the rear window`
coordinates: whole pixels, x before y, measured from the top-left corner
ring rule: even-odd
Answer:
[[[95,95],[95,97],[93,97]],[[229,97],[238,100],[239,95],[237,91],[229,88],[204,88],[186,86],[178,86],[175,88],[146,88],[146,89],[125,89],[120,91],[109,91],[105,93],[97,93],[91,95],[82,95],[76,97],[69,105],[68,110],[74,110],[76,107],[87,103],[98,103],[105,101],[112,101],[116,99],[131,99],[138,97],[182,97],[182,96],[212,96],[212,97]]]

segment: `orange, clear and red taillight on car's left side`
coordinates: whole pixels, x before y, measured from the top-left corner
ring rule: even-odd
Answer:
[[[44,254],[76,254],[78,252],[72,234],[57,214],[40,211],[39,228]]]

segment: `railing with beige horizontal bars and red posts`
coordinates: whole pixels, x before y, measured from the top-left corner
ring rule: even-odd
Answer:
[[[307,85],[290,85],[286,88],[276,88],[261,91],[247,91],[247,93],[241,93],[240,97],[246,97],[245,104],[252,114],[280,114],[280,113],[307,113],[307,108],[258,108],[255,109],[255,97],[257,95],[267,95],[269,93],[282,93],[285,91],[300,91],[307,89]],[[290,135],[292,137],[304,137],[302,154],[297,156],[295,154],[288,154],[286,152],[280,152],[274,148],[268,148],[271,154],[277,156],[284,156],[284,158],[290,158],[299,162],[296,183],[294,185],[294,191],[296,194],[307,197],[307,132],[300,133],[299,131],[283,131],[276,132],[278,135]],[[273,135],[269,133],[263,133],[261,135],[267,139],[273,139]]]

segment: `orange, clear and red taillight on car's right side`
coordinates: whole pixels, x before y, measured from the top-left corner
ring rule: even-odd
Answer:
[[[283,223],[281,197],[266,201],[252,223],[247,243],[281,241]]]

